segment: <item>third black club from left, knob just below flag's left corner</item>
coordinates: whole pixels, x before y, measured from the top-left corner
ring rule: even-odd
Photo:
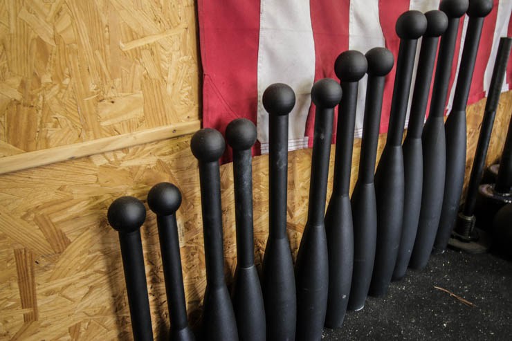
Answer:
[[[224,279],[222,243],[221,185],[219,158],[226,144],[219,131],[201,129],[190,142],[199,161],[201,209],[206,266],[206,291],[203,302],[203,339],[238,340],[237,322]]]

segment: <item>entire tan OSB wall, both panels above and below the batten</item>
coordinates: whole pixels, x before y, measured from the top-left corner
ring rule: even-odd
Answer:
[[[183,192],[177,216],[185,292],[190,320],[198,319],[205,273],[190,135],[116,149],[129,134],[199,125],[194,12],[191,0],[0,0],[0,156],[62,155],[70,146],[91,153],[97,141],[113,138],[98,149],[107,152],[0,175],[0,339],[130,340],[118,238],[106,212],[118,196],[145,201],[160,181]],[[483,108],[481,101],[468,110],[469,160]],[[509,92],[502,95],[488,160],[501,152],[511,110]],[[359,146],[356,141],[352,185]],[[268,233],[268,158],[253,162],[259,264]],[[289,156],[294,254],[307,218],[310,163],[310,150]],[[332,167],[329,176],[332,181]],[[221,181],[230,281],[236,264],[230,164],[221,167]],[[154,334],[165,338],[169,322],[151,212],[142,232]]]

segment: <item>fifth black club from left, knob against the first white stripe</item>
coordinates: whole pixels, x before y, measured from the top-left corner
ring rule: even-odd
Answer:
[[[290,86],[272,84],[264,91],[268,112],[268,240],[263,258],[262,291],[268,340],[295,340],[297,297],[290,241],[286,234],[288,187],[288,114],[295,106]]]

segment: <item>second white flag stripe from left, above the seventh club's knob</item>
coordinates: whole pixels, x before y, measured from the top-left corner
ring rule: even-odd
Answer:
[[[384,47],[385,40],[378,17],[378,0],[350,1],[349,13],[349,49],[361,53],[374,47]],[[363,116],[365,111],[365,95],[367,75],[359,81],[356,110],[356,138],[363,134]]]

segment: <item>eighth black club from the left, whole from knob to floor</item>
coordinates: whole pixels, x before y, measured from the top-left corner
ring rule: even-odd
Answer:
[[[375,158],[385,75],[391,71],[394,64],[393,54],[386,48],[372,48],[365,57],[368,62],[368,83],[359,174],[351,198],[354,223],[354,268],[347,307],[356,311],[365,306],[374,268],[377,236]]]

